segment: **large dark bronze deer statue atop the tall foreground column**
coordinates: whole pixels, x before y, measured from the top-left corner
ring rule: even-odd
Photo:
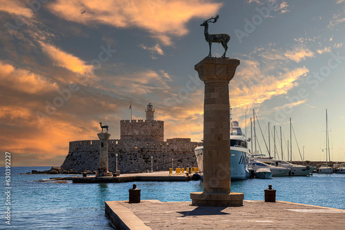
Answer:
[[[228,42],[230,41],[230,36],[228,34],[208,34],[208,23],[215,23],[219,18],[219,15],[217,15],[216,17],[212,17],[206,21],[204,21],[204,23],[201,24],[201,26],[205,27],[205,40],[208,42],[208,45],[210,45],[210,52],[208,53],[208,57],[212,56],[211,55],[211,45],[212,43],[221,43],[221,45],[223,45],[225,52],[224,54],[221,56],[222,58],[225,58],[225,54],[226,54],[226,50],[228,50]],[[211,21],[213,19],[213,21]]]

